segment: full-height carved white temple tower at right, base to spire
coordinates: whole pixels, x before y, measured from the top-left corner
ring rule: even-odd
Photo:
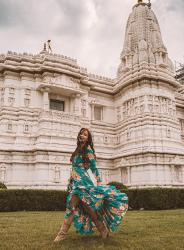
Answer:
[[[184,144],[176,115],[173,64],[150,1],[129,15],[117,72],[122,176],[135,186],[182,185]]]

